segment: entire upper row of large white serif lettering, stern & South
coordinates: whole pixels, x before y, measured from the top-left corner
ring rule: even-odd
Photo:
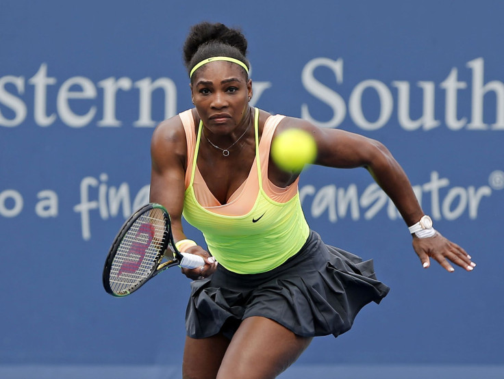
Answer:
[[[320,120],[309,105],[301,101],[301,118],[319,127],[336,128],[345,120],[348,108],[349,118],[357,127],[374,131],[388,125],[395,110],[397,122],[405,131],[429,131],[440,127],[442,121],[451,131],[504,130],[504,83],[499,80],[485,82],[483,57],[467,62],[466,69],[471,76],[468,82],[459,80],[459,69],[452,67],[446,79],[440,83],[423,80],[412,85],[409,81],[392,80],[389,84],[379,79],[344,83],[344,62],[341,57],[337,60],[316,57],[303,67],[301,82],[308,94],[331,109],[332,115],[329,120]],[[316,70],[329,70],[335,80],[323,83],[315,76]],[[338,93],[338,86],[343,83],[351,88],[347,91],[350,93],[348,99]],[[26,99],[26,96],[32,93],[25,88],[26,85],[34,87],[33,117],[35,124],[40,127],[49,127],[58,118],[73,128],[86,127],[92,122],[98,127],[121,127],[123,120],[117,115],[117,110],[127,104],[131,113],[129,108],[132,101],[138,104],[138,118],[133,118],[129,123],[134,127],[155,127],[160,120],[153,119],[153,111],[156,110],[153,108],[157,106],[153,105],[154,96],[164,96],[164,118],[177,113],[177,86],[168,77],[145,77],[135,82],[129,77],[108,77],[95,84],[87,77],[75,76],[62,81],[57,88],[58,79],[49,75],[47,64],[42,63],[27,81],[24,76],[0,77],[0,127],[18,127],[25,122],[31,106],[31,100]],[[55,87],[55,91],[49,91],[51,86]],[[270,81],[255,81],[251,104],[257,104],[264,90],[272,86]],[[436,94],[436,89],[444,95]],[[420,99],[419,96],[412,96],[419,91],[422,94]],[[364,101],[363,96],[367,92],[376,95],[375,99]],[[103,100],[99,101],[101,94]],[[458,109],[461,96],[470,101],[470,109]],[[417,102],[421,102],[420,106]],[[366,107],[375,105],[378,116],[371,119],[366,116]],[[421,109],[420,116],[412,116],[411,109]],[[103,116],[96,120],[99,114]]]

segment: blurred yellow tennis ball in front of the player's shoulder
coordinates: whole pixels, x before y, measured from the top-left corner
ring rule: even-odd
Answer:
[[[317,145],[310,133],[302,129],[287,129],[277,135],[271,144],[271,157],[282,170],[301,172],[312,164],[317,155]]]

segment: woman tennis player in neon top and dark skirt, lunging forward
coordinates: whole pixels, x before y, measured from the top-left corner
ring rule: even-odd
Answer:
[[[409,226],[424,267],[429,258],[449,272],[452,263],[475,266],[433,228],[382,144],[251,107],[246,55],[238,29],[194,25],[184,44],[194,108],[153,133],[150,200],[168,209],[177,248],[205,259],[183,270],[194,279],[184,378],[275,378],[313,337],[346,332],[362,306],[388,293],[372,261],[326,245],[310,230],[299,174],[270,159],[272,140],[287,129],[314,136],[315,164],[370,172]],[[207,251],[184,234],[182,215],[203,233]]]

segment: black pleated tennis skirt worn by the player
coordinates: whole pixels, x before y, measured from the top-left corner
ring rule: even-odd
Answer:
[[[303,248],[273,270],[236,274],[218,265],[210,278],[194,280],[187,334],[199,339],[222,332],[231,339],[243,319],[262,316],[302,337],[338,337],[364,305],[379,303],[389,290],[372,260],[328,246],[312,231]]]

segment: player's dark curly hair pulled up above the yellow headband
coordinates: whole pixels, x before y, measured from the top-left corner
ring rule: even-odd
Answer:
[[[210,57],[231,57],[250,68],[247,60],[247,39],[238,28],[221,23],[203,22],[193,25],[184,43],[184,65],[187,72]],[[246,76],[247,72],[244,73]]]

